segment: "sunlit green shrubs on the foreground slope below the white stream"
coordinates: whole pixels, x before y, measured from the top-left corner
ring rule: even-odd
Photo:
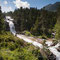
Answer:
[[[3,35],[0,35],[0,59],[44,60],[38,48],[14,37],[9,32],[5,32]]]

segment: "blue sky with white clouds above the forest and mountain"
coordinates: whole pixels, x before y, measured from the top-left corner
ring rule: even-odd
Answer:
[[[35,7],[43,8],[48,4],[54,4],[60,0],[0,0],[2,12],[14,11],[15,9]]]

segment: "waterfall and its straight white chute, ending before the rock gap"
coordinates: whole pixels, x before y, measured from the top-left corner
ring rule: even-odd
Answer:
[[[11,33],[13,35],[16,35],[20,39],[23,39],[25,42],[32,43],[34,46],[38,46],[40,48],[43,48],[42,44],[40,44],[38,42],[35,42],[35,41],[32,41],[27,36],[21,35],[21,34],[16,34],[15,26],[14,26],[14,23],[13,23],[13,19],[10,16],[6,16],[6,20],[5,21],[9,23],[10,31],[11,31]]]

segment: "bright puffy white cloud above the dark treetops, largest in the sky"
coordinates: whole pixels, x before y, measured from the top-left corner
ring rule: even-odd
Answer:
[[[21,7],[30,8],[30,4],[27,1],[23,2],[22,0],[15,0],[13,1],[13,3],[15,4],[17,8],[21,8]]]

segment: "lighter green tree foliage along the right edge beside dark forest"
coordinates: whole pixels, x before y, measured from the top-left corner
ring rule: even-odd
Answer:
[[[57,23],[55,25],[55,31],[56,31],[56,39],[60,40],[60,7],[57,11],[57,14],[58,14],[58,18],[57,18]]]

